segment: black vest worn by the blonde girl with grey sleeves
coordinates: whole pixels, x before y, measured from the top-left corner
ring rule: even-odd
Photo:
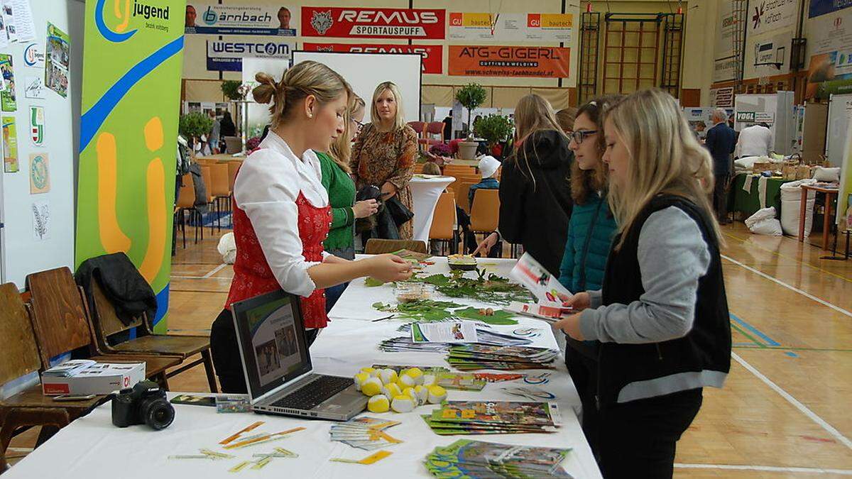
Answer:
[[[682,338],[660,343],[601,343],[596,397],[599,407],[619,401],[619,395],[625,402],[631,401],[627,397],[630,395],[653,397],[707,385],[721,387],[728,375],[731,325],[719,245],[711,234],[711,219],[688,200],[659,196],[639,214],[625,233],[621,249],[610,251],[603,279],[603,304],[630,304],[645,292],[637,257],[639,234],[648,216],[669,206],[676,206],[698,224],[710,250],[710,267],[698,283],[692,330]],[[613,245],[619,239],[620,235]]]

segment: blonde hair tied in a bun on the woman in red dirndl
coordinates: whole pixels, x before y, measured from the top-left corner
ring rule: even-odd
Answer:
[[[280,82],[264,72],[257,73],[255,79],[260,83],[251,90],[255,101],[272,103],[269,107],[271,128],[285,121],[297,103],[309,95],[314,95],[320,105],[335,101],[341,95],[347,95],[348,105],[351,105],[354,96],[352,87],[340,73],[316,61],[300,61],[284,72]]]

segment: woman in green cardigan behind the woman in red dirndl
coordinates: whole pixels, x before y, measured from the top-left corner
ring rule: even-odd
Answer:
[[[328,153],[317,153],[322,171],[322,186],[328,192],[331,205],[331,227],[328,238],[323,241],[325,251],[343,259],[355,259],[354,224],[358,218],[366,218],[378,211],[375,199],[355,202],[355,183],[349,175],[349,156],[352,140],[358,135],[358,124],[364,119],[364,100],[355,96],[354,103],[344,118],[343,135],[331,143]],[[325,288],[325,311],[331,311],[334,303],[348,286],[343,283]]]

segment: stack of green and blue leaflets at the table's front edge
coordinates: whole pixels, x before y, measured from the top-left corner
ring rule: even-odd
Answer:
[[[439,478],[570,477],[561,467],[571,449],[514,446],[460,439],[435,447],[426,456],[426,469]]]

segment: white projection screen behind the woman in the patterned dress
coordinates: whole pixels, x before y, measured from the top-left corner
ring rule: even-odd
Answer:
[[[406,122],[420,119],[420,76],[422,69],[419,54],[396,53],[337,53],[316,51],[293,52],[293,65],[313,60],[340,73],[352,85],[355,95],[367,104],[364,123],[370,122],[370,102],[373,91],[382,82],[394,82],[400,87]]]

